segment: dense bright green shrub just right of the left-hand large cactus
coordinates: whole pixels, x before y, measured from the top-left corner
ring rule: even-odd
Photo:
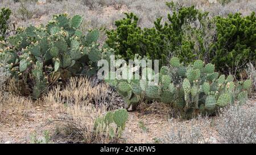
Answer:
[[[135,54],[147,56],[152,60],[166,61],[167,53],[164,53],[161,45],[163,36],[154,28],[137,27],[138,17],[133,13],[125,13],[126,18],[115,21],[116,30],[107,31],[106,43],[115,49],[116,55],[121,55],[126,60],[133,60]],[[162,51],[162,52],[160,52]]]

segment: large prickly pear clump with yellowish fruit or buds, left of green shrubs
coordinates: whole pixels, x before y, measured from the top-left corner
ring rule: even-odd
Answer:
[[[65,85],[69,77],[96,74],[97,61],[103,57],[97,44],[99,32],[84,35],[81,23],[80,15],[54,15],[46,26],[19,27],[15,36],[2,42],[6,48],[0,58],[9,64],[20,92],[37,99],[56,82]]]

